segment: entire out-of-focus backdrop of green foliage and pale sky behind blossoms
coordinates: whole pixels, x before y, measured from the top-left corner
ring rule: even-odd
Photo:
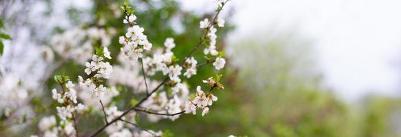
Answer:
[[[200,36],[198,21],[215,10],[213,0],[130,2],[150,41],[162,45],[174,37],[182,45],[175,49],[181,58]],[[122,34],[121,4],[0,1],[1,31],[12,36],[2,40],[1,77],[38,87],[50,67],[39,61],[41,47],[75,27],[115,28]],[[227,27],[218,33],[218,48],[226,51],[226,89],[211,112],[140,124],[174,136],[401,136],[400,6],[391,0],[232,0],[222,12]],[[112,52],[119,50],[117,36],[110,38]],[[67,61],[52,75],[83,69]],[[197,77],[211,75],[207,70],[200,69]],[[55,82],[50,78],[43,85],[28,112],[52,109],[45,104]],[[18,128],[13,128],[1,134],[28,136],[36,123],[22,127],[23,133],[14,134]]]

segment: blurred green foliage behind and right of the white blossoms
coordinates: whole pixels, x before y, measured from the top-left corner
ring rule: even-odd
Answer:
[[[92,2],[91,11],[71,8],[70,20],[83,28],[96,26],[116,29],[116,36],[112,38],[109,47],[113,57],[111,63],[116,64],[116,53],[121,47],[117,36],[123,35],[127,27],[123,25],[123,16],[114,17],[112,6],[117,5],[119,8],[122,1]],[[177,45],[173,51],[180,59],[187,55],[187,51],[200,38],[200,18],[211,16],[198,16],[194,12],[183,11],[172,0],[143,0],[131,4],[138,23],[145,28],[145,34],[153,45],[162,47],[165,38],[173,37]],[[51,14],[52,8],[48,10]],[[92,22],[81,23],[80,14],[83,12],[92,14]],[[176,18],[180,18],[179,27],[174,22]],[[228,25],[218,31],[218,48],[227,50],[228,64],[223,73],[226,89],[217,93],[218,101],[211,112],[206,116],[185,114],[176,121],[163,120],[158,123],[141,119],[139,125],[171,132],[174,136],[401,136],[401,100],[371,95],[358,104],[351,104],[338,99],[322,83],[324,76],[316,69],[316,57],[312,54],[313,49],[309,47],[307,38],[300,37],[296,32],[267,32],[225,42],[225,36],[232,29],[235,27]],[[63,28],[54,30],[54,34],[65,31]],[[197,55],[202,53],[199,51]],[[77,75],[84,75],[83,69],[84,66],[66,62],[54,75],[65,73],[76,79]],[[212,66],[198,69],[198,75],[190,79],[189,84],[198,84],[200,79],[216,75],[212,70]],[[153,78],[160,79],[161,75]],[[50,91],[56,83],[51,78],[47,86]],[[132,89],[121,90],[127,95]],[[36,112],[46,114],[54,111],[48,91],[43,95],[47,98],[37,97],[32,100]],[[130,103],[129,100],[121,102],[122,108]],[[103,124],[103,121],[99,121],[102,119],[100,116],[85,119],[86,122],[79,124],[79,129],[97,129]],[[36,133],[38,120],[32,121],[32,129],[28,134]]]

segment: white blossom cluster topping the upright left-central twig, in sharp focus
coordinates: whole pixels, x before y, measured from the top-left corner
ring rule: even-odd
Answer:
[[[152,43],[147,40],[147,36],[143,34],[143,27],[140,27],[134,21],[136,20],[135,15],[125,16],[123,23],[130,25],[127,29],[125,36],[119,37],[119,43],[124,45],[121,48],[123,58],[130,62],[130,64],[136,64],[138,58],[143,58],[143,50],[149,51],[152,48]]]

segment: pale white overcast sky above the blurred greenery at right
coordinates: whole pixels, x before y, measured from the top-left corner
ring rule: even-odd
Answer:
[[[207,11],[210,2],[184,1]],[[260,31],[296,29],[309,38],[325,84],[341,98],[367,94],[398,96],[401,88],[401,1],[391,0],[232,0],[229,19],[236,40]],[[210,10],[209,10],[210,11]]]

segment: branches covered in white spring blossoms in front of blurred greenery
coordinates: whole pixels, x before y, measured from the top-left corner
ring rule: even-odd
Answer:
[[[59,86],[51,90],[54,105],[50,108],[56,114],[43,116],[38,121],[39,131],[32,136],[99,136],[103,132],[108,136],[167,136],[161,131],[154,132],[138,125],[139,117],[156,122],[161,119],[175,121],[183,114],[197,112],[205,116],[218,101],[214,92],[224,89],[220,84],[222,75],[196,77],[193,80],[198,82],[197,85],[189,85],[187,80],[197,75],[202,66],[214,66],[216,71],[224,68],[226,61],[224,52],[216,48],[216,32],[225,26],[225,20],[219,14],[227,2],[219,0],[214,16],[200,21],[198,31],[203,34],[184,58],[178,58],[174,53],[174,48],[181,45],[176,45],[172,37],[165,38],[163,47],[154,47],[146,35],[150,32],[137,22],[141,18],[136,16],[127,1],[121,6],[126,31],[116,39],[120,44],[118,51],[109,48],[116,34],[112,30],[79,28],[54,36],[52,48],[43,49],[43,55],[50,58],[49,62],[54,58],[53,50],[61,58],[54,64],[54,69],[72,60],[85,66],[81,70],[85,75],[71,76],[78,79],[64,74],[54,75]],[[196,52],[203,55],[196,55]],[[112,63],[113,60],[116,61]],[[47,73],[44,77],[51,76],[52,73]],[[121,92],[124,87],[133,91],[128,94]],[[23,92],[26,93],[25,90],[19,91]],[[26,99],[27,95],[18,97]],[[18,109],[7,109],[5,116],[12,119],[12,114],[17,114]],[[90,116],[101,118],[94,122],[101,126],[80,128],[81,121]]]

